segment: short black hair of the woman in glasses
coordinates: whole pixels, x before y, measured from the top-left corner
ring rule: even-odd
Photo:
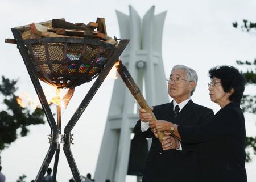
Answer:
[[[233,66],[216,66],[209,70],[210,79],[216,77],[221,79],[224,92],[228,93],[234,89],[229,96],[230,101],[241,101],[243,91],[245,91],[245,77]]]

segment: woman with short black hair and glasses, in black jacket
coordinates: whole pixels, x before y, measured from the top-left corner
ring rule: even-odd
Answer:
[[[245,182],[245,118],[240,101],[245,90],[245,78],[232,66],[218,66],[209,71],[210,99],[220,105],[212,121],[199,126],[178,126],[159,120],[150,127],[157,132],[172,134],[184,143],[202,143],[200,151],[200,181]],[[141,115],[147,115],[140,111]],[[163,150],[172,145],[164,137]]]

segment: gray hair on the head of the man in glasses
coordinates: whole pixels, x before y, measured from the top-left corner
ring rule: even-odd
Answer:
[[[195,82],[195,88],[191,91],[191,95],[193,95],[193,92],[195,92],[196,90],[196,85],[197,85],[197,81],[198,81],[198,77],[197,77],[197,73],[195,70],[193,70],[190,67],[184,66],[184,65],[175,65],[174,67],[172,67],[172,71],[174,70],[184,70],[187,74],[187,81],[193,81]],[[171,73],[172,73],[171,71]]]

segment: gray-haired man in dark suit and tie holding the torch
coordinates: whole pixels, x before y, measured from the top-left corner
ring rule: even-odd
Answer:
[[[191,96],[197,84],[196,71],[183,65],[172,68],[167,78],[171,103],[154,106],[158,120],[172,121],[179,125],[199,125],[213,117],[209,108],[193,103]],[[149,126],[151,115],[139,109],[139,118],[134,133],[151,138],[152,144],[143,173],[142,182],[196,182],[199,180],[200,145],[188,144],[170,138],[170,150],[162,150],[162,145],[154,129]],[[165,146],[166,147],[166,146]],[[167,149],[166,148],[166,149]]]

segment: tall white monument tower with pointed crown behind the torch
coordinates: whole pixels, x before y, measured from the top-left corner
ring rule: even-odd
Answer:
[[[130,16],[117,12],[121,39],[130,39],[121,60],[138,84],[148,105],[167,103],[168,92],[162,60],[162,32],[166,11],[143,19],[129,6]],[[125,182],[131,133],[138,120],[138,106],[121,78],[114,83],[112,100],[94,179]]]

